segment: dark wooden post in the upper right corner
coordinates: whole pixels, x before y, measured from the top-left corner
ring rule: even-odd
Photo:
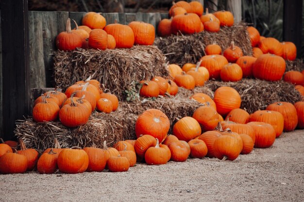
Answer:
[[[303,0],[284,0],[283,40],[293,42],[301,57]]]

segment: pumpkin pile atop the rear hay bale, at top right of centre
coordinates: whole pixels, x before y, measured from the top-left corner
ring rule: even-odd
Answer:
[[[201,31],[218,32],[220,26],[231,27],[234,24],[234,17],[229,11],[218,11],[210,14],[206,9],[203,15],[203,5],[198,1],[173,2],[169,10],[170,19],[163,19],[159,22],[157,33],[159,36],[170,36],[181,32],[193,34]]]

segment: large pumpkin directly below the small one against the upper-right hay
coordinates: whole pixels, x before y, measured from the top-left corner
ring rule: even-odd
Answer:
[[[206,55],[201,58],[201,66],[207,68],[210,78],[219,79],[220,70],[225,64],[228,64],[227,59],[222,55]]]

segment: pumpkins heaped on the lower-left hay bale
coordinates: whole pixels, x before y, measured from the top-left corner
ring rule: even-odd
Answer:
[[[100,82],[91,79],[78,81],[65,93],[49,91],[34,101],[33,120],[37,123],[58,119],[67,127],[78,127],[87,123],[95,109],[110,113],[118,108],[116,95],[104,93]]]

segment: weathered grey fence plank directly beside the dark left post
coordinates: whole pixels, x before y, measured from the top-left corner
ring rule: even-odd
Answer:
[[[30,88],[46,86],[41,14],[41,12],[29,12]]]

